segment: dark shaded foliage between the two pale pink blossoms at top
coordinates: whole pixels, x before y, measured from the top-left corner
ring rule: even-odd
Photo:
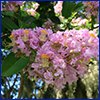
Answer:
[[[46,2],[38,1],[38,3],[40,4],[40,6],[36,11],[40,14],[39,18],[42,20],[42,24],[48,18],[51,19],[53,23],[60,24],[59,18],[55,16],[52,1],[46,1]]]

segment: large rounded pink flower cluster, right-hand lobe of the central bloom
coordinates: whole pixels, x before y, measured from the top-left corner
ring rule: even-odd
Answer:
[[[95,32],[87,29],[57,32],[49,37],[37,51],[34,70],[28,69],[29,78],[33,75],[42,78],[48,85],[61,90],[64,84],[72,84],[88,73],[91,58],[98,59],[99,39]]]

